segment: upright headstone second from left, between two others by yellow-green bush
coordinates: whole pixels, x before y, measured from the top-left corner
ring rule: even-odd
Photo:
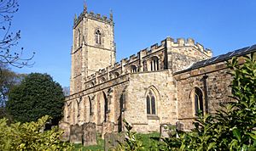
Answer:
[[[78,124],[71,126],[70,143],[82,143],[83,127]]]

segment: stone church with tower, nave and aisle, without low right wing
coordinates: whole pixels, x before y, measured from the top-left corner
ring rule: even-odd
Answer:
[[[96,31],[101,32],[101,43],[96,42]],[[97,131],[107,121],[113,122],[114,131],[122,131],[123,119],[141,132],[159,131],[163,123],[175,124],[181,105],[177,82],[183,80],[176,81],[172,73],[211,56],[210,50],[191,38],[167,37],[115,63],[112,14],[108,19],[87,13],[84,7],[74,20],[71,95],[66,98],[64,121],[79,126],[95,122]],[[154,93],[156,113],[153,108],[147,113],[149,93]]]

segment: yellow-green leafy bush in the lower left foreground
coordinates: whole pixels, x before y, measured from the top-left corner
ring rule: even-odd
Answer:
[[[72,150],[69,143],[62,143],[62,131],[57,127],[44,131],[44,125],[49,116],[44,116],[38,121],[20,122],[7,125],[6,119],[0,120],[0,150]]]

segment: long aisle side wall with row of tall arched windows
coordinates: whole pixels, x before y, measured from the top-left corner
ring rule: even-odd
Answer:
[[[128,80],[129,75],[119,76],[66,98],[64,121],[71,125],[95,122],[97,131],[102,131],[102,122],[109,120],[114,122],[114,129],[118,131],[122,120],[120,101],[125,95]]]

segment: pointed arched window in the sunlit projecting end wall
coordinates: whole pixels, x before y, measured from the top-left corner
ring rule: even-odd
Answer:
[[[149,90],[147,93],[147,114],[156,115],[155,110],[156,97],[152,90]]]

